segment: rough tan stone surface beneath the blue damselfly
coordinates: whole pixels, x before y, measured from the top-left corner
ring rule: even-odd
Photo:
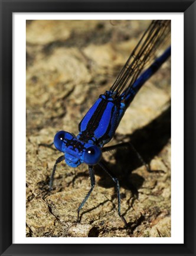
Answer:
[[[124,228],[117,215],[112,181],[95,167],[90,188],[87,166],[57,167],[61,155],[51,143],[58,130],[77,134],[89,107],[115,81],[149,21],[27,21],[27,236],[171,236],[170,63],[136,95],[109,143],[131,141],[151,172],[131,149],[104,153],[119,178]]]

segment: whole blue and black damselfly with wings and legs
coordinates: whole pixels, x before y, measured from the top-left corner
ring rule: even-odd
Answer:
[[[171,55],[171,47],[168,47],[161,56],[156,59],[154,57],[156,50],[165,44],[169,33],[170,21],[152,21],[112,87],[99,96],[81,120],[79,134],[74,136],[72,133],[60,131],[54,136],[54,146],[58,151],[63,152],[63,156],[60,156],[55,162],[50,180],[50,191],[55,168],[59,162],[65,160],[70,167],[78,167],[83,163],[89,166],[91,188],[77,210],[78,221],[80,220],[80,210],[94,188],[93,166],[98,164],[116,184],[118,214],[125,225],[127,224],[120,213],[119,181],[102,162],[102,151],[105,152],[107,148],[103,148],[103,146],[115,135],[126,108],[139,89]]]

